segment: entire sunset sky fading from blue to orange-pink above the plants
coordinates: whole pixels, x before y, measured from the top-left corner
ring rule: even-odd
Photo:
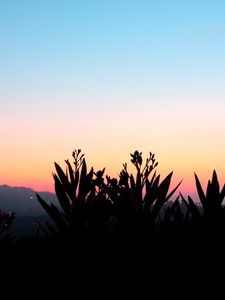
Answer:
[[[0,184],[53,191],[81,148],[136,149],[195,190],[225,179],[224,0],[0,0]]]

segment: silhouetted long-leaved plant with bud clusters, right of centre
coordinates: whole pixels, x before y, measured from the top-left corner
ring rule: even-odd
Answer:
[[[123,233],[123,238],[136,236],[148,240],[158,226],[165,204],[181,182],[169,192],[173,172],[160,182],[160,175],[154,171],[158,162],[151,152],[143,164],[142,152],[136,150],[131,154],[131,163],[136,175],[128,172],[126,163],[123,165],[118,184],[119,197],[117,202],[114,201],[119,232]]]

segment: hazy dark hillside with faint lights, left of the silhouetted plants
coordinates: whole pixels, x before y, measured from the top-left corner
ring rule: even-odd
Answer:
[[[58,206],[56,195],[49,192],[38,192],[48,203]],[[11,231],[16,236],[35,234],[49,220],[48,215],[39,204],[36,191],[26,187],[0,185],[0,209],[14,212],[15,219]]]

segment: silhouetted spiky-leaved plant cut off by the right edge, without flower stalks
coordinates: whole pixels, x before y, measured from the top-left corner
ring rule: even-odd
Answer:
[[[187,200],[181,198],[187,208],[188,230],[191,244],[207,248],[220,243],[223,245],[225,230],[225,209],[223,200],[225,197],[225,185],[220,190],[216,171],[213,171],[212,180],[208,181],[206,192],[203,191],[200,180],[196,174],[195,183],[200,200],[200,204],[195,202],[190,196]]]

